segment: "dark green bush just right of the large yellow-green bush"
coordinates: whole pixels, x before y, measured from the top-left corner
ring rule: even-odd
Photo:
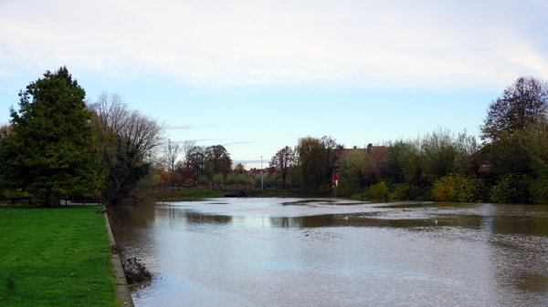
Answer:
[[[521,173],[508,173],[502,175],[497,184],[490,191],[490,200],[493,202],[525,203],[531,201],[529,187],[532,177]]]

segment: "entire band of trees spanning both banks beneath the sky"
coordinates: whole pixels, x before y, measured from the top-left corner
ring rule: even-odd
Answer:
[[[325,195],[394,200],[548,202],[548,86],[520,77],[490,103],[480,138],[437,128],[423,137],[344,148],[299,138],[248,171],[222,145],[172,142],[164,124],[116,94],[86,99],[66,67],[19,94],[0,128],[0,192],[47,206],[101,197],[111,206],[156,186],[299,184]],[[251,173],[251,177],[248,176]],[[257,181],[257,180],[255,180]],[[257,182],[255,182],[257,183]]]

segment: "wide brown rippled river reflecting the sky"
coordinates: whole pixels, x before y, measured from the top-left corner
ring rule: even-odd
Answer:
[[[120,207],[136,306],[545,306],[548,206],[212,199]]]

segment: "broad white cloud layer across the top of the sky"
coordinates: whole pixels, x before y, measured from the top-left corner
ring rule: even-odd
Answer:
[[[548,76],[548,9],[536,1],[22,0],[0,12],[0,77],[52,63],[194,87],[500,88]]]

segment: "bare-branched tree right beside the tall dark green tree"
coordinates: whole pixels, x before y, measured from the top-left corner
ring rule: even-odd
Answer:
[[[143,179],[163,143],[163,124],[132,110],[117,94],[103,92],[89,103],[97,149],[103,160],[104,197],[115,206]]]

